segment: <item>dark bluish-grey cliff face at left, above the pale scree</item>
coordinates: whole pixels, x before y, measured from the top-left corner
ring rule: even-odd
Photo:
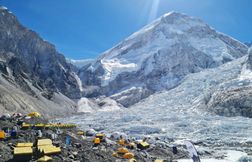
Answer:
[[[7,70],[8,68],[8,70]],[[26,80],[50,99],[53,92],[76,99],[80,90],[71,66],[55,47],[23,27],[6,9],[0,9],[0,70],[34,95]]]

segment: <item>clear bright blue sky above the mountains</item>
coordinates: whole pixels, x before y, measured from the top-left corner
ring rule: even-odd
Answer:
[[[0,0],[26,27],[72,59],[95,58],[170,11],[252,41],[252,0]]]

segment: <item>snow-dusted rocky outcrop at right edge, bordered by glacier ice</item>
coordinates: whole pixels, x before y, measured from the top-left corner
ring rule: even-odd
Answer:
[[[208,108],[224,116],[245,116],[252,118],[252,49],[237,78],[222,83],[213,92]]]

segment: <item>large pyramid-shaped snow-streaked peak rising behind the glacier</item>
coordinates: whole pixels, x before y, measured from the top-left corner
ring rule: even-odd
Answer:
[[[79,71],[87,97],[106,95],[128,107],[171,89],[190,73],[244,56],[247,46],[203,21],[171,12]]]

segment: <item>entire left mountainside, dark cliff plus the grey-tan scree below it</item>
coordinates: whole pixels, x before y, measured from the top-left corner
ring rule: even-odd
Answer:
[[[0,112],[73,111],[76,75],[63,55],[0,8]],[[71,98],[71,99],[69,99]]]

